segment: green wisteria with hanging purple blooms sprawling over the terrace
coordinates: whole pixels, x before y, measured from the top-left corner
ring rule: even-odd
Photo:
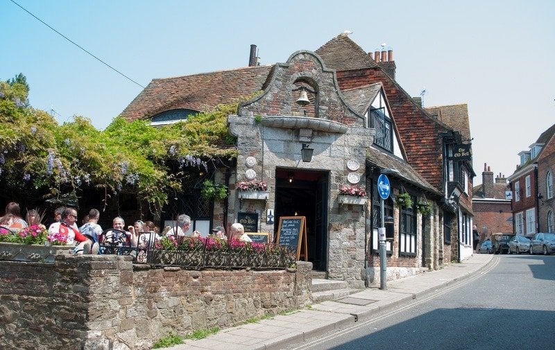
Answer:
[[[28,106],[28,90],[22,74],[0,82],[0,193],[6,199],[36,202],[96,189],[105,202],[131,193],[155,212],[168,193],[181,190],[186,167],[206,169],[208,162],[237,157],[227,128],[237,105],[161,128],[117,117],[99,131],[82,116],[59,125]]]

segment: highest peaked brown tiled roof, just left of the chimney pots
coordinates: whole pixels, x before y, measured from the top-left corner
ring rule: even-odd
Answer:
[[[376,62],[347,35],[339,34],[316,50],[325,67],[336,71],[377,67]]]

